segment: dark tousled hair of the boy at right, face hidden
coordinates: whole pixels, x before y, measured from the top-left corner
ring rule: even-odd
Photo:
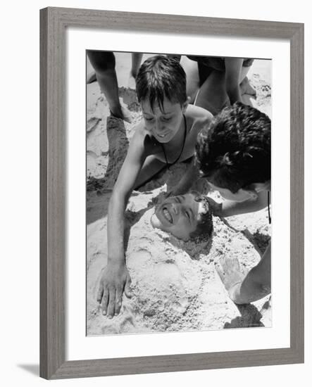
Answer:
[[[212,184],[239,189],[271,178],[271,121],[256,108],[236,102],[204,128],[196,143],[199,170]]]

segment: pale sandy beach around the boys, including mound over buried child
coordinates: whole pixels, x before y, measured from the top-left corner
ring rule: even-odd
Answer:
[[[143,60],[146,58],[144,55]],[[182,61],[187,59],[182,58]],[[132,123],[110,116],[108,103],[93,82],[87,85],[87,334],[132,334],[271,326],[271,296],[237,306],[216,272],[221,256],[236,257],[244,270],[254,267],[270,240],[267,210],[222,220],[213,217],[211,240],[183,242],[151,227],[162,192],[170,190],[187,168],[180,163],[130,197],[126,211],[126,260],[132,278],[131,299],[123,296],[120,315],[108,319],[96,305],[101,270],[107,262],[107,210],[141,111],[135,91],[127,87],[130,53],[116,54],[120,103]],[[256,89],[249,102],[270,116],[270,61],[255,60],[248,77]],[[92,70],[88,63],[87,72]],[[208,191],[205,182],[192,189]]]

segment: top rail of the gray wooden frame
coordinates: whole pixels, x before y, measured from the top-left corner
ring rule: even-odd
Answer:
[[[260,20],[203,18],[200,16],[129,13],[77,8],[49,8],[66,26],[103,28],[109,30],[137,30],[157,33],[213,34],[259,38],[290,39],[297,31],[297,23]]]

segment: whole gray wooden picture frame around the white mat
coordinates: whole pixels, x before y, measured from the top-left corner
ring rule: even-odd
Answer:
[[[290,42],[290,348],[65,361],[67,27]],[[82,150],[83,151],[83,150]],[[77,378],[304,362],[304,25],[72,8],[40,11],[40,376]]]

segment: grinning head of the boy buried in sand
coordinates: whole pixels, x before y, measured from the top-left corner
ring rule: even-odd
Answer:
[[[183,241],[210,237],[213,230],[208,199],[194,191],[163,201],[156,207],[151,224]]]

